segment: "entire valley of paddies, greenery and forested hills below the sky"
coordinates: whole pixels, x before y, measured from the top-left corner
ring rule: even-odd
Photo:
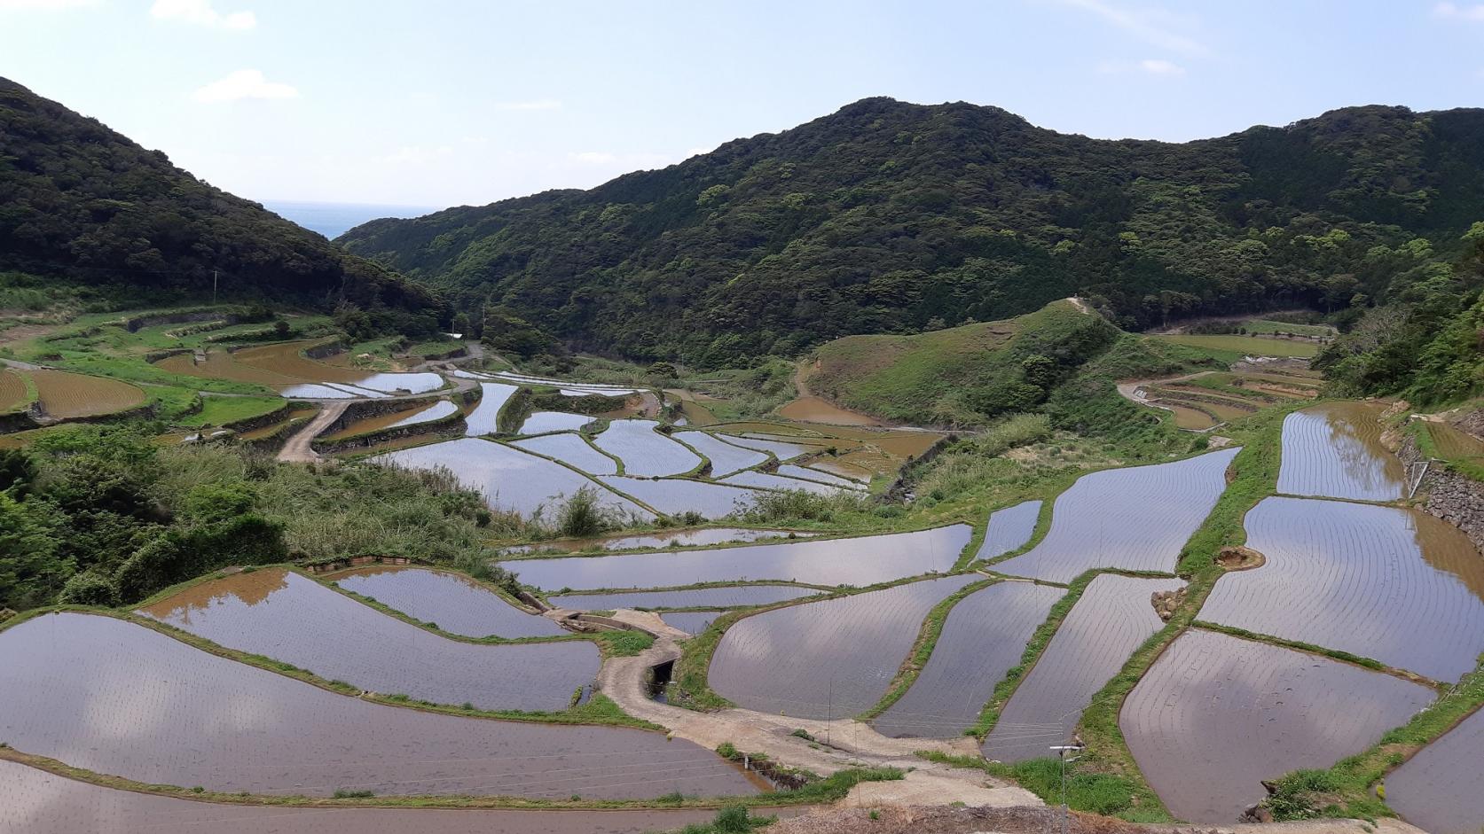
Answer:
[[[867,99],[331,245],[3,82],[0,827],[1478,831],[1480,119]]]

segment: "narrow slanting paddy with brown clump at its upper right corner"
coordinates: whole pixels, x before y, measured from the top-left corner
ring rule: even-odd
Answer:
[[[1066,743],[1092,696],[1165,625],[1149,602],[1150,594],[1183,585],[1178,579],[1114,574],[1094,579],[1000,711],[984,739],[984,757],[1042,758],[1051,755],[1048,746]]]

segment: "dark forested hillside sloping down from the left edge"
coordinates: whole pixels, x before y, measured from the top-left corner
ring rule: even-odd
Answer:
[[[352,303],[392,325],[432,321],[435,295],[202,183],[24,86],[0,79],[0,270],[159,294]]]

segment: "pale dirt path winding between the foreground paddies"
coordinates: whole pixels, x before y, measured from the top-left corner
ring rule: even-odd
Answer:
[[[859,785],[846,801],[879,804],[948,804],[971,806],[1039,806],[1039,797],[1022,788],[990,779],[979,770],[954,769],[914,755],[919,749],[935,749],[957,755],[978,754],[971,738],[953,741],[889,739],[867,724],[853,720],[819,721],[769,715],[751,709],[721,709],[693,712],[659,703],[646,692],[646,675],[651,666],[680,657],[680,646],[662,635],[635,657],[613,657],[598,672],[598,689],[635,718],[653,721],[678,736],[715,749],[732,742],[746,752],[764,752],[773,761],[801,767],[828,776],[846,767],[895,766],[911,770],[901,782]],[[818,743],[792,736],[806,730]]]

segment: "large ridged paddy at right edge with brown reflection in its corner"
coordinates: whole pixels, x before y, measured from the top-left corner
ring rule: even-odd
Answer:
[[[1264,499],[1247,545],[1267,556],[1223,576],[1201,619],[1339,649],[1439,681],[1484,651],[1484,559],[1428,513]]]

